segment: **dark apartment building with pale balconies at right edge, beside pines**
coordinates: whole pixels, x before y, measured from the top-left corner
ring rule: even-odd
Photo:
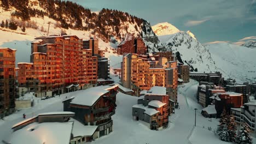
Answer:
[[[253,133],[256,133],[256,101],[249,101],[241,108],[231,108],[231,114],[235,116],[238,124],[247,123]]]

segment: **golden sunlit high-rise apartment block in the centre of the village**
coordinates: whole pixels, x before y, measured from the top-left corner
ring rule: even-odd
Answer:
[[[154,86],[166,87],[167,94],[177,102],[178,85],[177,62],[167,62],[167,58],[161,58],[156,67],[150,67],[147,59],[137,54],[129,53],[123,57],[121,63],[121,82],[126,88],[135,91],[139,95],[142,90],[149,90]]]

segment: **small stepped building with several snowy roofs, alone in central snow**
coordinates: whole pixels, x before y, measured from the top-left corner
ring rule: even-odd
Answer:
[[[132,106],[133,120],[143,121],[152,130],[168,127],[170,115],[169,97],[165,87],[152,87],[138,104]]]

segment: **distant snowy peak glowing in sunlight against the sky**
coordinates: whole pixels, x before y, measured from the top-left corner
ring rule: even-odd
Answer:
[[[179,29],[173,26],[171,23],[162,22],[152,26],[153,31],[156,35],[170,35],[178,33]]]

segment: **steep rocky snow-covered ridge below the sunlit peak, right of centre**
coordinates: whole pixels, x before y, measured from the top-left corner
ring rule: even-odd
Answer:
[[[173,53],[181,53],[183,62],[187,62],[198,71],[216,71],[217,68],[205,46],[192,38],[186,32],[178,32],[172,35],[159,36],[159,40],[166,47],[172,47]],[[165,51],[170,51],[166,49]]]

